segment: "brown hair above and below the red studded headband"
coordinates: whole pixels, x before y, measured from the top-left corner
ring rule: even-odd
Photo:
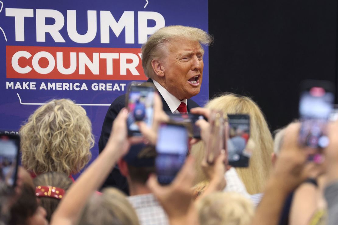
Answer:
[[[56,188],[61,188],[65,191],[73,184],[73,181],[64,173],[49,172],[41,174],[34,178],[34,185],[38,186],[51,186]],[[50,222],[52,214],[54,213],[56,207],[58,206],[60,199],[52,197],[39,197],[40,204],[46,209],[47,220]]]

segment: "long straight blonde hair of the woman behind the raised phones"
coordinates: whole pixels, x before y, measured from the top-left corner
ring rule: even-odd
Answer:
[[[225,93],[216,97],[209,101],[205,107],[220,110],[225,117],[227,114],[249,114],[250,139],[254,141],[255,147],[250,158],[249,167],[236,168],[236,171],[249,194],[262,193],[272,167],[271,153],[273,149],[272,135],[262,111],[249,97],[233,93]],[[204,157],[203,149],[202,143],[192,147],[192,154],[195,155],[198,161],[201,161]],[[198,171],[196,183],[207,179],[199,165],[196,165],[196,170]]]

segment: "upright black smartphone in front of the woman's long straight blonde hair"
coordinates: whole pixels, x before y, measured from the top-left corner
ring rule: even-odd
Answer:
[[[250,138],[250,116],[247,114],[228,114],[227,116],[228,163],[234,167],[248,167],[251,155],[246,152],[246,146]]]

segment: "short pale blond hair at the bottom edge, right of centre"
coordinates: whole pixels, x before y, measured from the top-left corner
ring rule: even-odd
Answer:
[[[249,225],[254,205],[239,193],[215,192],[197,204],[200,225]]]

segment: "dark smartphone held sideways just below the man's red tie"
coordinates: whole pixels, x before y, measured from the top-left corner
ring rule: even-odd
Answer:
[[[185,125],[188,129],[190,138],[201,139],[201,129],[195,124],[199,119],[205,119],[202,115],[198,114],[172,114],[167,113],[169,116],[169,121],[173,123],[179,123]]]

